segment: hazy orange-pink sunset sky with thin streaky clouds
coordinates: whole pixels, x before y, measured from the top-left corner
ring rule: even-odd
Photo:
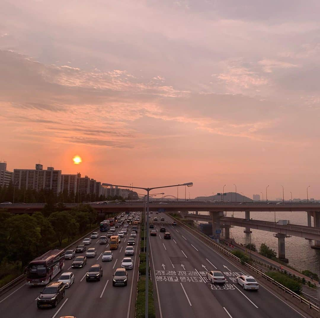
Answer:
[[[320,198],[318,0],[3,0],[0,159],[187,197]],[[80,165],[72,158],[79,155]],[[176,195],[176,189],[164,190]],[[180,197],[184,197],[180,189]],[[262,196],[262,195],[261,195]]]

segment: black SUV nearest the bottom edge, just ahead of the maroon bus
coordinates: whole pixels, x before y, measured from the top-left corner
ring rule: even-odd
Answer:
[[[57,307],[58,302],[64,297],[65,284],[52,282],[44,287],[37,299],[37,307]]]

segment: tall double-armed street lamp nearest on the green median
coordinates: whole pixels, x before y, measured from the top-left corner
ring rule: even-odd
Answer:
[[[175,185],[167,185],[167,186],[163,186],[163,187],[153,187],[153,188],[142,188],[142,187],[132,187],[134,189],[142,189],[147,191],[147,216],[149,214],[149,192],[151,190],[154,189],[163,189],[163,188],[172,188],[172,187],[179,187],[180,185],[186,185],[187,187],[192,187],[193,186],[193,182],[187,182],[187,183],[183,183],[183,184],[175,184]],[[115,185],[115,184],[110,184],[110,183],[102,183],[102,186],[117,186],[117,187],[121,187],[121,188],[126,188],[128,186],[124,186],[124,185]],[[147,228],[149,228],[149,218],[147,217]],[[147,238],[147,251],[146,251],[146,302],[145,302],[145,318],[148,318],[148,296],[149,296],[149,237],[148,235],[145,237],[145,239]]]

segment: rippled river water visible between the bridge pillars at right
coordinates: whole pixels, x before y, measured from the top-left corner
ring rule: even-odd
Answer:
[[[189,212],[192,213],[192,212]],[[208,212],[199,212],[199,214],[207,215]],[[245,218],[244,212],[227,212],[227,216],[236,218]],[[250,212],[250,218],[261,221],[275,221],[274,212]],[[307,212],[276,212],[276,221],[290,220],[290,223],[299,225],[308,225]],[[311,218],[313,226],[313,218]],[[230,237],[236,243],[249,244],[250,234],[243,232],[244,228],[235,226],[230,229]],[[267,244],[270,248],[278,253],[278,239],[273,236],[273,232],[251,229],[251,243],[256,244],[259,250],[261,243]],[[314,244],[313,240],[306,240],[302,237],[287,237],[285,239],[285,256],[289,259],[289,265],[298,270],[309,269],[319,274],[320,268],[320,250],[312,249],[310,246]]]

